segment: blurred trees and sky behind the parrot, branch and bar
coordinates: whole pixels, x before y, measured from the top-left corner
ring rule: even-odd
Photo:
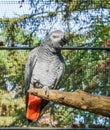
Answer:
[[[0,0],[0,127],[25,127],[24,69],[30,50],[54,31],[68,32],[69,47],[110,47],[109,0]],[[60,90],[110,96],[110,50],[62,50]],[[33,123],[32,126],[36,126]],[[50,103],[39,127],[110,127],[110,118]]]

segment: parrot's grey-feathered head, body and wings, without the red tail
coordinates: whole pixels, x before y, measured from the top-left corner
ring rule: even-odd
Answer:
[[[30,87],[57,88],[65,70],[59,48],[66,42],[65,34],[57,30],[30,52],[25,68],[25,93]]]

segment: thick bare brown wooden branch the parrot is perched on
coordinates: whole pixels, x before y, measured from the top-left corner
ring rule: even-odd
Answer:
[[[110,97],[88,94],[82,90],[62,92],[49,90],[45,95],[43,89],[30,89],[28,92],[45,100],[53,101],[73,108],[89,111],[102,116],[110,117]]]

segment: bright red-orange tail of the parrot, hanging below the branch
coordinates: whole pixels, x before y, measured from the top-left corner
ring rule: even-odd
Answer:
[[[26,118],[31,121],[36,121],[40,115],[42,99],[28,93],[28,104],[26,110]]]

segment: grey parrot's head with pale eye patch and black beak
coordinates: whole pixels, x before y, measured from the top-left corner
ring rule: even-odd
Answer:
[[[43,46],[48,46],[53,50],[58,50],[62,48],[68,42],[66,34],[60,30],[53,31],[50,33],[45,41]]]

